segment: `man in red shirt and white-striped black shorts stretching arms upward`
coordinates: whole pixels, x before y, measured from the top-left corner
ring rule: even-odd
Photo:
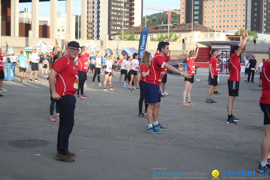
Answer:
[[[239,81],[240,81],[240,73],[241,73],[241,66],[239,61],[239,56],[245,47],[248,38],[248,30],[245,30],[243,33],[243,40],[239,44],[239,46],[234,45],[231,47],[231,57],[229,59],[229,64],[231,67],[231,74],[228,79],[228,89],[229,89],[229,99],[227,104],[227,111],[228,111],[228,119],[226,120],[227,124],[237,124],[235,121],[239,121],[238,118],[235,118],[232,115],[232,104],[234,102],[235,97],[238,97],[239,91]]]

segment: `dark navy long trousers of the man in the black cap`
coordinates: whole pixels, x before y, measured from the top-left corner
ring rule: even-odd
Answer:
[[[59,154],[68,155],[68,139],[74,126],[75,96],[67,94],[56,100],[59,107],[59,128],[57,135],[57,151]]]

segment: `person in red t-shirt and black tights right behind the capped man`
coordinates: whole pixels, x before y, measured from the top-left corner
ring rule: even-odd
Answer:
[[[78,87],[77,96],[76,96],[77,99],[88,98],[87,96],[83,94],[83,85],[85,83],[85,80],[87,80],[87,67],[89,66],[88,58],[98,54],[98,52],[87,54],[86,52],[89,49],[90,49],[90,45],[87,48],[85,46],[82,46],[81,48],[82,52],[80,52],[78,55],[77,69],[79,73],[79,87]],[[80,90],[81,90],[81,95],[80,95]]]

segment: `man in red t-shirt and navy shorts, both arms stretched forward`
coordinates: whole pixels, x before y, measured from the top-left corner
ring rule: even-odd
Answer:
[[[158,123],[158,111],[160,106],[160,84],[161,80],[165,74],[165,68],[171,72],[181,74],[187,78],[191,78],[191,75],[187,72],[180,71],[173,66],[170,66],[166,62],[168,61],[177,61],[185,59],[187,57],[197,57],[197,52],[190,53],[189,55],[179,55],[179,56],[167,56],[169,50],[169,42],[159,42],[158,50],[159,53],[153,57],[151,60],[151,65],[149,69],[149,75],[145,83],[145,99],[144,103],[148,104],[147,108],[147,133],[158,134],[158,130],[166,130],[166,127],[163,127]],[[152,124],[153,117],[153,124]]]

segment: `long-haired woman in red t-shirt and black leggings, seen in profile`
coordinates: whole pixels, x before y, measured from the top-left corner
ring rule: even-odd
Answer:
[[[143,113],[145,81],[146,81],[147,76],[149,74],[149,67],[150,67],[151,59],[152,59],[151,53],[144,51],[143,57],[141,59],[141,65],[140,65],[141,77],[140,77],[140,81],[139,81],[139,86],[140,86],[141,92],[140,92],[140,100],[139,100],[139,115],[138,115],[138,117],[141,117],[141,118],[146,118],[146,116],[144,114],[146,114],[147,107],[148,107],[148,104],[144,103],[145,111]]]

